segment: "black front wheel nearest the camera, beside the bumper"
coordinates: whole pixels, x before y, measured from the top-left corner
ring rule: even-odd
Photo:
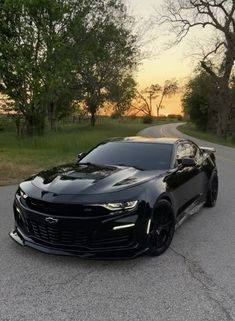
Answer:
[[[175,217],[171,204],[160,200],[150,225],[149,250],[151,256],[158,256],[170,246],[175,232]]]

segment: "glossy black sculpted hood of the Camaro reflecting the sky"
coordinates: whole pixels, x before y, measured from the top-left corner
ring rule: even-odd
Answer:
[[[40,172],[31,178],[31,183],[55,194],[103,194],[142,184],[162,173],[126,166],[67,164]]]

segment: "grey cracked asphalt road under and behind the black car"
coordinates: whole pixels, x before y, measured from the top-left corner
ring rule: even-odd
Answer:
[[[176,125],[141,134],[183,136]],[[197,142],[217,149],[217,205],[186,221],[156,258],[87,261],[21,247],[8,237],[16,187],[1,187],[0,320],[235,320],[235,149]]]

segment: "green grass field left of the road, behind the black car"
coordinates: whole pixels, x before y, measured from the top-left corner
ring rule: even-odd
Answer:
[[[168,121],[169,122],[169,121]],[[15,184],[23,178],[50,166],[73,162],[81,151],[100,141],[117,136],[131,136],[149,126],[140,119],[100,119],[92,128],[88,123],[65,124],[42,137],[18,137],[13,126],[0,131],[0,185]]]

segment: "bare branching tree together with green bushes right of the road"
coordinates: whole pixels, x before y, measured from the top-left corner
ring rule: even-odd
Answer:
[[[201,128],[212,129],[217,136],[234,134],[234,0],[163,0],[158,25],[168,25],[179,44],[191,30],[200,28],[210,39],[196,44],[199,72],[187,87],[183,98],[185,111]],[[199,49],[200,48],[200,49]]]

